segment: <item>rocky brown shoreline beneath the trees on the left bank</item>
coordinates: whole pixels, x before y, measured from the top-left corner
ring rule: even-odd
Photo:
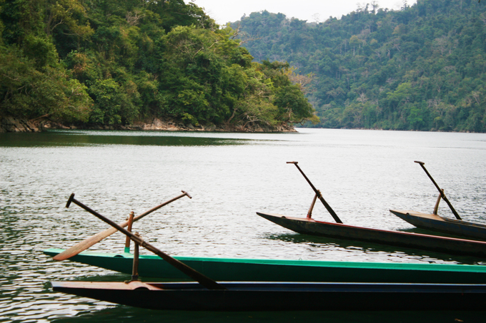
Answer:
[[[200,131],[222,133],[296,133],[293,125],[282,124],[275,127],[252,125],[185,125],[182,121],[172,118],[151,118],[146,121],[135,122],[132,125],[64,125],[46,118],[37,118],[30,121],[12,117],[0,116],[0,133],[12,132],[41,132],[51,129],[83,129],[83,130],[144,130],[144,131]]]

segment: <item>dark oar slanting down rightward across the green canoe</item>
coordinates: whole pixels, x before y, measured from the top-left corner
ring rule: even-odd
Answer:
[[[89,207],[87,207],[86,205],[84,205],[81,202],[79,202],[78,200],[76,200],[74,198],[74,193],[72,193],[71,196],[69,197],[69,200],[66,203],[66,207],[69,207],[69,205],[71,205],[71,202],[78,205],[79,207],[84,208],[84,210],[90,212],[92,215],[94,215],[95,217],[98,217],[100,220],[108,223],[109,225],[114,227],[114,229],[119,230],[119,232],[122,232],[124,235],[127,235],[127,237],[130,237],[130,239],[133,242],[137,243],[138,245],[141,245],[142,247],[144,247],[147,250],[154,252],[155,255],[158,255],[163,260],[169,262],[170,265],[176,267],[181,272],[184,272],[185,275],[191,277],[193,280],[196,280],[197,282],[199,282],[199,284],[202,284],[207,289],[226,289],[226,288],[222,287],[220,284],[218,284],[217,282],[215,282],[214,280],[212,280],[211,278],[202,275],[200,272],[197,272],[197,270],[192,269],[191,267],[184,264],[183,262],[180,262],[179,260],[174,259],[173,257],[171,257],[171,256],[167,255],[166,253],[162,252],[161,250],[157,249],[153,245],[150,245],[149,242],[145,242],[141,237],[134,235],[132,232],[125,230],[123,227],[121,227],[120,225],[117,225],[115,222],[107,219],[106,217],[99,214],[98,212],[91,210]]]

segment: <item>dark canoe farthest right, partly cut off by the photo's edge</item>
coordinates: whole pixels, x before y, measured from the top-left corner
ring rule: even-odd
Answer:
[[[390,210],[390,212],[415,227],[486,240],[486,225],[480,223],[447,219],[447,217],[440,217],[436,214],[415,211]]]

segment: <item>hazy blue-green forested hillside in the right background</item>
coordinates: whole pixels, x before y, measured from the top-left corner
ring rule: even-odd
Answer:
[[[324,22],[262,11],[232,28],[257,61],[307,76],[315,126],[486,132],[486,1],[373,1]]]

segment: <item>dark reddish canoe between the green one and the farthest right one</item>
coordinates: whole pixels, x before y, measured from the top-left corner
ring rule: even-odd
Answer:
[[[309,217],[287,217],[279,214],[257,212],[257,215],[277,225],[304,235],[318,235],[345,240],[380,243],[419,250],[445,252],[452,255],[486,256],[486,242],[476,240],[421,235],[418,233],[356,227],[341,223],[316,221]]]

